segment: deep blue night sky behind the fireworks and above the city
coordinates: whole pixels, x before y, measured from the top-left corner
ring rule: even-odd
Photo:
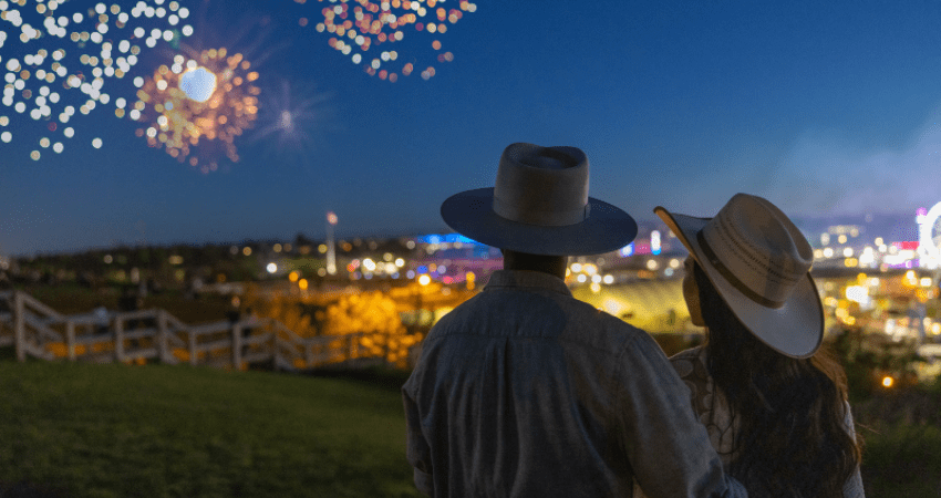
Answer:
[[[52,2],[20,3],[0,1],[8,11],[0,73],[11,89],[0,104],[0,255],[319,238],[328,210],[339,217],[339,237],[446,231],[441,203],[492,186],[514,142],[583,149],[590,195],[640,220],[654,219],[656,205],[711,216],[738,191],[792,216],[913,215],[941,201],[938,2],[478,0],[462,9],[458,0],[423,0],[413,2],[426,8],[417,15],[423,31],[400,22],[402,41],[379,43],[378,32],[395,31],[382,24],[364,52],[349,35],[317,29],[327,24],[322,10],[342,10],[340,1],[180,0],[172,9],[121,0],[104,6],[101,22],[89,15],[97,2],[69,0],[53,12],[70,21],[59,27],[64,38],[48,33],[37,12]],[[118,12],[143,3],[167,17],[132,17],[118,28],[115,3]],[[360,6],[347,2],[348,20]],[[182,8],[189,17],[170,25],[168,14]],[[438,22],[440,8],[461,18]],[[13,10],[39,39],[21,41]],[[407,21],[401,4],[391,12]],[[431,33],[430,22],[447,31]],[[102,23],[101,42],[70,39]],[[194,32],[179,38],[186,24]],[[136,27],[146,37],[177,34],[149,48]],[[334,50],[331,38],[356,50]],[[93,83],[94,66],[80,55],[104,59],[110,41],[114,58],[126,56],[123,40],[139,46],[136,63],[123,77],[101,76],[95,91],[107,102],[99,97],[82,114],[90,96],[63,83],[79,71]],[[118,98],[127,111],[138,100],[135,77],[153,79],[174,55],[220,48],[251,62],[237,68],[241,91],[258,87],[257,118],[232,139],[238,162],[204,136],[180,163],[135,134],[152,122],[115,115]],[[41,49],[46,58],[29,65],[25,56]],[[40,82],[37,70],[50,72],[59,49],[68,74]],[[392,50],[397,58],[380,65],[389,73],[364,72]],[[453,60],[440,62],[446,53]],[[434,75],[424,79],[428,66]],[[24,69],[31,77],[17,89]],[[250,84],[249,72],[258,76]],[[41,86],[60,100],[33,120]],[[69,105],[74,115],[62,123]]]

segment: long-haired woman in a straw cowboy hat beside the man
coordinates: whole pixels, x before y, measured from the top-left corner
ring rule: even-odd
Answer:
[[[862,497],[846,375],[818,353],[807,240],[745,194],[715,218],[654,212],[690,250],[683,297],[707,338],[671,361],[726,471],[753,497]]]

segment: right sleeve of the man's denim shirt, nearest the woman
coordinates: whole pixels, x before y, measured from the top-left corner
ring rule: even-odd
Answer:
[[[747,497],[726,476],[690,393],[660,346],[639,334],[624,349],[614,375],[622,444],[634,478],[650,498]]]

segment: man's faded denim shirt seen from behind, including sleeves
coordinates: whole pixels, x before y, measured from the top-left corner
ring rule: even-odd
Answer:
[[[402,387],[432,497],[745,497],[653,339],[565,282],[497,271],[442,318]]]

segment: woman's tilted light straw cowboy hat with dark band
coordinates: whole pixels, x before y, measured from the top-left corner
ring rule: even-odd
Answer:
[[[762,342],[811,356],[824,338],[814,251],[775,205],[737,194],[714,218],[653,210],[680,238],[735,317]]]

